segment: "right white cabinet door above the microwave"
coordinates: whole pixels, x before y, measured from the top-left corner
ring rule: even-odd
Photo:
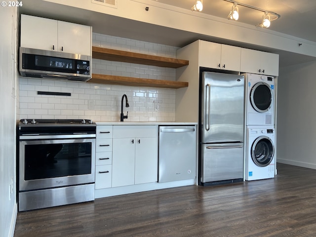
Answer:
[[[91,27],[58,21],[58,51],[91,55]]]

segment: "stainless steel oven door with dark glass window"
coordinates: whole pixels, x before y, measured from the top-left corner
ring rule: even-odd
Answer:
[[[95,138],[20,140],[19,191],[94,183]]]

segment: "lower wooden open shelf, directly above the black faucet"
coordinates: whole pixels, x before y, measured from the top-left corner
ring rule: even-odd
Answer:
[[[169,89],[178,89],[178,88],[189,86],[189,83],[184,82],[184,81],[130,78],[130,77],[121,77],[121,76],[102,75],[102,74],[92,74],[92,78],[89,79],[87,82],[101,83],[101,84],[115,84],[115,85],[158,87],[158,88],[169,88]]]

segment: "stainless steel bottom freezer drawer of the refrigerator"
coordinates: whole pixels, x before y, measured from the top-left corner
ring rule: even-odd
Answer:
[[[243,178],[243,143],[203,144],[201,183]]]

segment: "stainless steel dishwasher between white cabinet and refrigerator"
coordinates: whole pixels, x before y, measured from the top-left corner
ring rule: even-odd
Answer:
[[[196,130],[195,125],[159,126],[159,183],[196,177]]]

